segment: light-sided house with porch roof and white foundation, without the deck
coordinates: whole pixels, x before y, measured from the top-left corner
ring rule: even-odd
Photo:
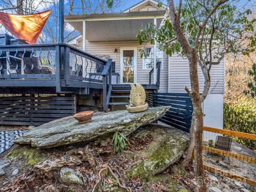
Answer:
[[[149,72],[156,68],[157,61],[161,61],[157,92],[186,93],[185,86],[190,87],[188,60],[177,54],[168,57],[159,51],[157,45],[139,45],[136,39],[138,29],[145,28],[147,23],[151,22],[159,27],[165,18],[166,10],[166,6],[158,8],[157,1],[144,0],[120,13],[67,15],[66,22],[81,33],[80,36],[68,43],[98,57],[113,59],[115,73],[118,77],[116,83],[121,85],[127,83],[149,84]],[[142,49],[148,53],[147,58],[141,59],[140,50]],[[127,56],[132,57],[130,64],[125,63]],[[132,71],[130,79],[125,76],[125,70],[128,68]],[[152,75],[154,77],[151,81],[155,84],[157,83],[157,70],[154,70]],[[199,82],[202,92],[204,83],[202,73],[199,73]],[[220,129],[223,127],[224,82],[225,70],[224,61],[222,61],[211,69],[211,88],[203,102],[205,126]],[[115,105],[114,102],[110,105]],[[124,105],[120,99],[116,102]]]

